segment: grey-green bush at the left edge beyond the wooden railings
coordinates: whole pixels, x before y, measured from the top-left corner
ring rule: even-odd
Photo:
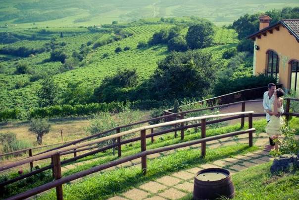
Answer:
[[[0,133],[0,152],[8,153],[12,151],[17,151],[20,149],[25,149],[30,147],[32,144],[26,139],[19,140],[16,138],[16,133]],[[22,153],[20,153],[22,154]],[[8,156],[6,156],[7,158]]]

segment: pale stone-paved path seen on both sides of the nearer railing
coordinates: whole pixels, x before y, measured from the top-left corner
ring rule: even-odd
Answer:
[[[254,145],[255,146],[265,146],[269,142],[269,138],[266,133],[253,134]],[[220,146],[234,145],[237,143],[248,143],[248,134],[239,135],[238,137],[228,137],[219,139],[217,141],[207,142],[207,152],[208,149],[217,148]],[[194,145],[185,148],[199,148],[199,145]],[[162,155],[168,155],[175,153],[175,150],[156,153],[148,156],[149,159],[154,159]],[[226,168],[231,174],[238,173],[248,167],[255,166],[261,163],[268,162],[271,157],[268,155],[269,152],[266,150],[258,150],[252,153],[247,153],[245,155],[237,155],[230,158],[216,160],[214,162],[198,165],[194,168],[182,170],[167,176],[163,176],[156,180],[151,180],[141,186],[134,187],[133,189],[109,200],[175,200],[186,196],[188,193],[193,192],[193,181],[194,175],[200,170],[211,167]],[[93,160],[88,160],[72,165],[63,166],[62,170],[66,171],[72,169],[76,166],[91,163],[101,158],[96,158]],[[106,170],[112,170],[121,167],[130,167],[141,165],[141,159],[132,160],[130,162],[123,163],[116,167],[111,167]]]

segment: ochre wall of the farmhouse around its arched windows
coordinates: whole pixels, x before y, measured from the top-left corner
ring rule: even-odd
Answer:
[[[261,38],[255,38],[259,50],[256,51],[255,73],[263,73],[267,65],[266,52],[272,50],[279,57],[279,83],[283,84],[285,89],[290,88],[291,60],[299,60],[299,43],[291,35],[287,28],[279,26],[279,31],[273,28],[273,33],[267,32],[267,36],[261,35]]]

